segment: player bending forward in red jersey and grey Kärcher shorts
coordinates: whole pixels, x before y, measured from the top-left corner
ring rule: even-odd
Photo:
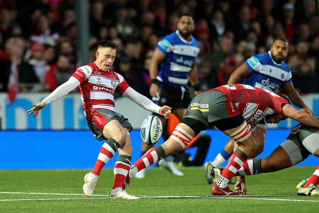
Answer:
[[[150,149],[135,162],[129,178],[160,159],[181,151],[201,130],[216,126],[230,136],[238,149],[232,154],[221,178],[211,191],[216,196],[233,196],[227,184],[243,166],[248,157],[256,156],[256,141],[251,134],[257,123],[267,115],[269,122],[278,123],[287,117],[319,128],[319,120],[310,114],[296,110],[285,97],[268,90],[243,84],[229,84],[196,95],[187,108],[182,121],[162,145]]]

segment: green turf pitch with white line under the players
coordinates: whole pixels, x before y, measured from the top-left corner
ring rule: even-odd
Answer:
[[[146,179],[132,179],[131,185],[127,188],[129,194],[197,198],[144,197],[133,201],[107,199],[113,183],[112,170],[102,172],[94,191],[95,195],[101,196],[92,198],[85,198],[83,195],[11,194],[82,194],[82,179],[88,170],[0,171],[0,213],[317,213],[319,197],[300,197],[294,190],[296,185],[310,176],[315,169],[316,167],[293,167],[275,173],[247,177],[248,195],[234,199],[211,197],[212,186],[206,183],[202,167],[181,168],[185,174],[182,178],[173,177],[161,168],[154,168],[146,171]],[[230,186],[233,188],[233,185]]]

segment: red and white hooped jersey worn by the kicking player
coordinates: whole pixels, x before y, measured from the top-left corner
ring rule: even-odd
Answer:
[[[94,109],[115,110],[115,91],[123,94],[129,87],[122,75],[113,70],[101,70],[95,62],[88,63],[75,70],[73,77],[80,81],[79,90],[87,119]]]

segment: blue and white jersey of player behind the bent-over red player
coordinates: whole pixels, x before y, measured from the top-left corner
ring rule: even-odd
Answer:
[[[270,51],[257,54],[245,61],[251,74],[244,80],[244,84],[275,91],[285,83],[292,81],[290,67],[285,61],[276,63],[270,56]]]

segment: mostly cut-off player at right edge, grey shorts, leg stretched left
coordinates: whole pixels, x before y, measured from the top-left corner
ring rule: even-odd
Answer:
[[[294,166],[304,161],[309,155],[319,157],[319,129],[299,123],[293,128],[287,139],[270,156],[263,159],[248,159],[235,176],[275,172]],[[219,179],[221,170],[221,168],[213,168],[211,170],[214,180]],[[308,181],[304,180],[297,185],[296,189],[299,189],[298,195],[319,196],[319,190],[316,189],[318,184],[319,166]],[[237,193],[246,194],[245,177],[238,177],[235,190]]]

